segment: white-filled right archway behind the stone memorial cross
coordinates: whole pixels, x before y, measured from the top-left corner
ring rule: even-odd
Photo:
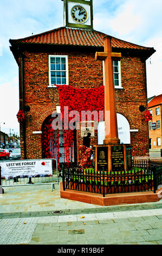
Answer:
[[[121,144],[130,144],[130,126],[128,120],[124,115],[117,113],[117,123],[118,123],[118,136]],[[103,144],[103,139],[105,139],[105,121],[99,122],[98,124],[98,144]]]

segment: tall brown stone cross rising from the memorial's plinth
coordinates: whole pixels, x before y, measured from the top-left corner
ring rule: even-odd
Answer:
[[[113,60],[120,60],[121,53],[112,52],[111,36],[104,38],[104,52],[96,52],[96,60],[105,60],[105,139],[103,144],[120,144],[116,117]]]

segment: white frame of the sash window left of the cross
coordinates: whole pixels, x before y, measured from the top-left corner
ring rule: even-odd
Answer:
[[[54,70],[51,70],[51,62],[50,62],[51,58],[65,58],[66,59],[66,70],[64,72],[66,72],[66,85],[68,85],[69,84],[68,55],[51,55],[51,54],[49,54],[49,56],[48,56],[48,72],[49,72],[49,85],[48,85],[48,87],[56,88],[56,86],[54,84],[51,84],[51,71],[54,71]],[[57,70],[57,71],[61,72],[59,70]],[[57,71],[54,71],[54,72],[57,72]],[[63,84],[57,84],[57,85],[62,86]]]

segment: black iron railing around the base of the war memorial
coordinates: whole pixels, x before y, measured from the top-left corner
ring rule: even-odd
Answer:
[[[81,169],[79,164],[63,166],[63,190],[77,190],[91,193],[112,194],[155,191],[162,184],[162,165],[150,162],[132,162],[132,169],[118,172],[93,168]]]

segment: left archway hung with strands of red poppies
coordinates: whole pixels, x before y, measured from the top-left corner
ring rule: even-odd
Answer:
[[[54,119],[49,115],[42,124],[42,157],[55,158],[59,163],[74,162],[75,132],[54,130],[52,125]]]

